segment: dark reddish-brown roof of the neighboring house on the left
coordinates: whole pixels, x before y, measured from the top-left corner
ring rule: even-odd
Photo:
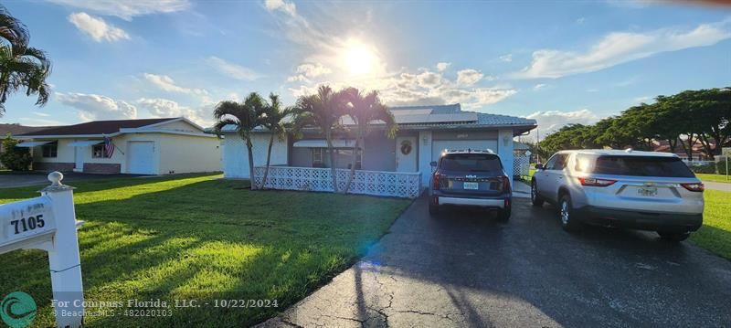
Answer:
[[[73,134],[111,134],[120,132],[120,129],[140,128],[147,125],[176,120],[168,119],[142,119],[142,120],[117,120],[117,121],[93,121],[74,125],[55,126],[36,132],[19,134],[18,136],[34,135],[73,135]]]

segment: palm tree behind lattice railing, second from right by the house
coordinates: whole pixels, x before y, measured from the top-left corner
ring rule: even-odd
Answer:
[[[345,114],[343,93],[334,92],[329,86],[320,86],[317,94],[301,96],[297,100],[294,113],[294,131],[297,135],[301,135],[302,129],[307,126],[316,126],[324,134],[327,140],[327,151],[330,154],[330,173],[333,175],[333,191],[338,192],[333,133],[340,129],[340,118]]]

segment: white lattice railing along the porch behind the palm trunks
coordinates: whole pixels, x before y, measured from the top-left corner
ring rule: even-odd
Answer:
[[[267,175],[269,189],[333,191],[329,168],[270,166]],[[337,169],[338,190],[343,190],[350,170]],[[254,181],[261,184],[264,167],[254,167]],[[350,194],[416,198],[421,190],[418,172],[384,172],[355,170]]]

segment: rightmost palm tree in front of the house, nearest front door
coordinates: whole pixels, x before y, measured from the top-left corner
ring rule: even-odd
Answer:
[[[377,91],[371,91],[367,94],[361,93],[355,88],[344,90],[344,98],[349,103],[348,116],[355,122],[355,147],[353,148],[353,161],[350,164],[350,175],[345,184],[344,193],[350,190],[355,176],[355,164],[357,163],[358,150],[363,148],[365,135],[369,132],[373,123],[386,124],[386,136],[390,139],[396,137],[397,125],[394,115],[388,111],[387,107],[378,98]],[[363,154],[361,154],[361,162]]]

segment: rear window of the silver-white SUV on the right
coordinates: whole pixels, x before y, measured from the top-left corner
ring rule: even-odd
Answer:
[[[596,158],[596,160],[594,160]],[[694,177],[688,165],[677,157],[577,156],[577,171],[599,175]]]

